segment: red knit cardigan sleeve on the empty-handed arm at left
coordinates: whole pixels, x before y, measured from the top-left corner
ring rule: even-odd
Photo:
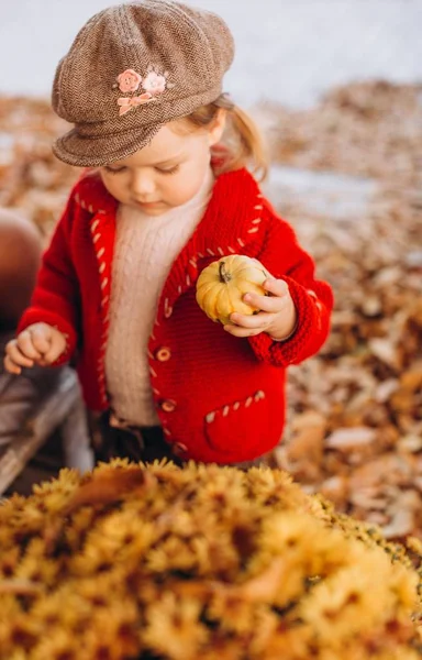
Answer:
[[[77,342],[79,286],[69,249],[74,205],[70,197],[43,255],[30,307],[18,326],[18,332],[21,332],[32,323],[44,322],[63,332],[66,351],[56,365],[70,359]]]

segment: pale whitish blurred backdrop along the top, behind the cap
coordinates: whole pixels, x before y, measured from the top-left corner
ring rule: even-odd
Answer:
[[[0,89],[49,95],[56,63],[81,25],[112,2],[15,0],[0,10]],[[309,107],[334,85],[412,82],[422,63],[421,0],[196,0],[236,42],[226,88],[252,106]],[[8,66],[9,63],[9,66]]]

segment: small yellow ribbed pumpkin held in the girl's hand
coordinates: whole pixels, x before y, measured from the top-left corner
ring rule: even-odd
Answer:
[[[197,302],[213,321],[230,323],[234,311],[244,315],[259,310],[243,301],[245,294],[265,296],[263,288],[268,273],[256,258],[231,254],[213,262],[202,271],[197,282]]]

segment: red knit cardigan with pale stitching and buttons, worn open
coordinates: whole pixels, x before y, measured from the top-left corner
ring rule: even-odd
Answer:
[[[98,175],[76,184],[19,327],[44,321],[67,336],[58,363],[76,353],[85,399],[93,410],[109,407],[104,352],[116,205]],[[198,307],[199,273],[234,253],[258,258],[289,285],[299,321],[291,339],[275,342],[264,332],[233,337]],[[251,174],[221,175],[173,264],[148,342],[154,402],[174,451],[182,459],[234,463],[274,448],[284,427],[285,370],[321,348],[332,304],[330,286],[314,278],[312,258]]]

